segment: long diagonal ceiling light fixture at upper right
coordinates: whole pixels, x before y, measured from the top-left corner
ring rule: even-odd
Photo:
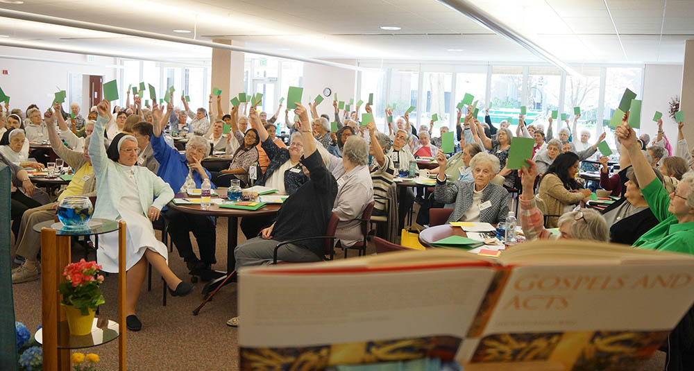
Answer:
[[[473,5],[471,1],[468,0],[438,0],[439,3],[442,3],[445,6],[448,6],[448,8],[451,8],[452,10],[455,10],[459,12],[460,14],[472,19],[473,21],[477,22],[478,24],[481,24],[482,26],[489,28],[491,31],[494,31],[498,35],[501,35],[503,37],[506,37],[507,39],[511,40],[512,42],[515,42],[516,44],[522,46],[524,49],[527,51],[530,51],[530,53],[533,53],[534,55],[537,55],[538,57],[542,58],[543,60],[546,60],[547,62],[550,62],[554,64],[555,66],[559,67],[560,69],[563,69],[566,71],[567,74],[570,74],[572,76],[581,76],[581,74],[578,73],[575,69],[570,67],[568,64],[562,62],[559,58],[557,58],[554,54],[550,53],[549,51],[546,51],[543,49],[541,46],[533,42],[532,40],[528,39],[524,35],[521,35],[521,33],[518,33],[518,31],[514,30],[513,28],[510,28],[506,24],[504,24],[502,21],[492,17],[489,15],[489,13],[484,12],[484,10],[477,8],[477,6]]]

